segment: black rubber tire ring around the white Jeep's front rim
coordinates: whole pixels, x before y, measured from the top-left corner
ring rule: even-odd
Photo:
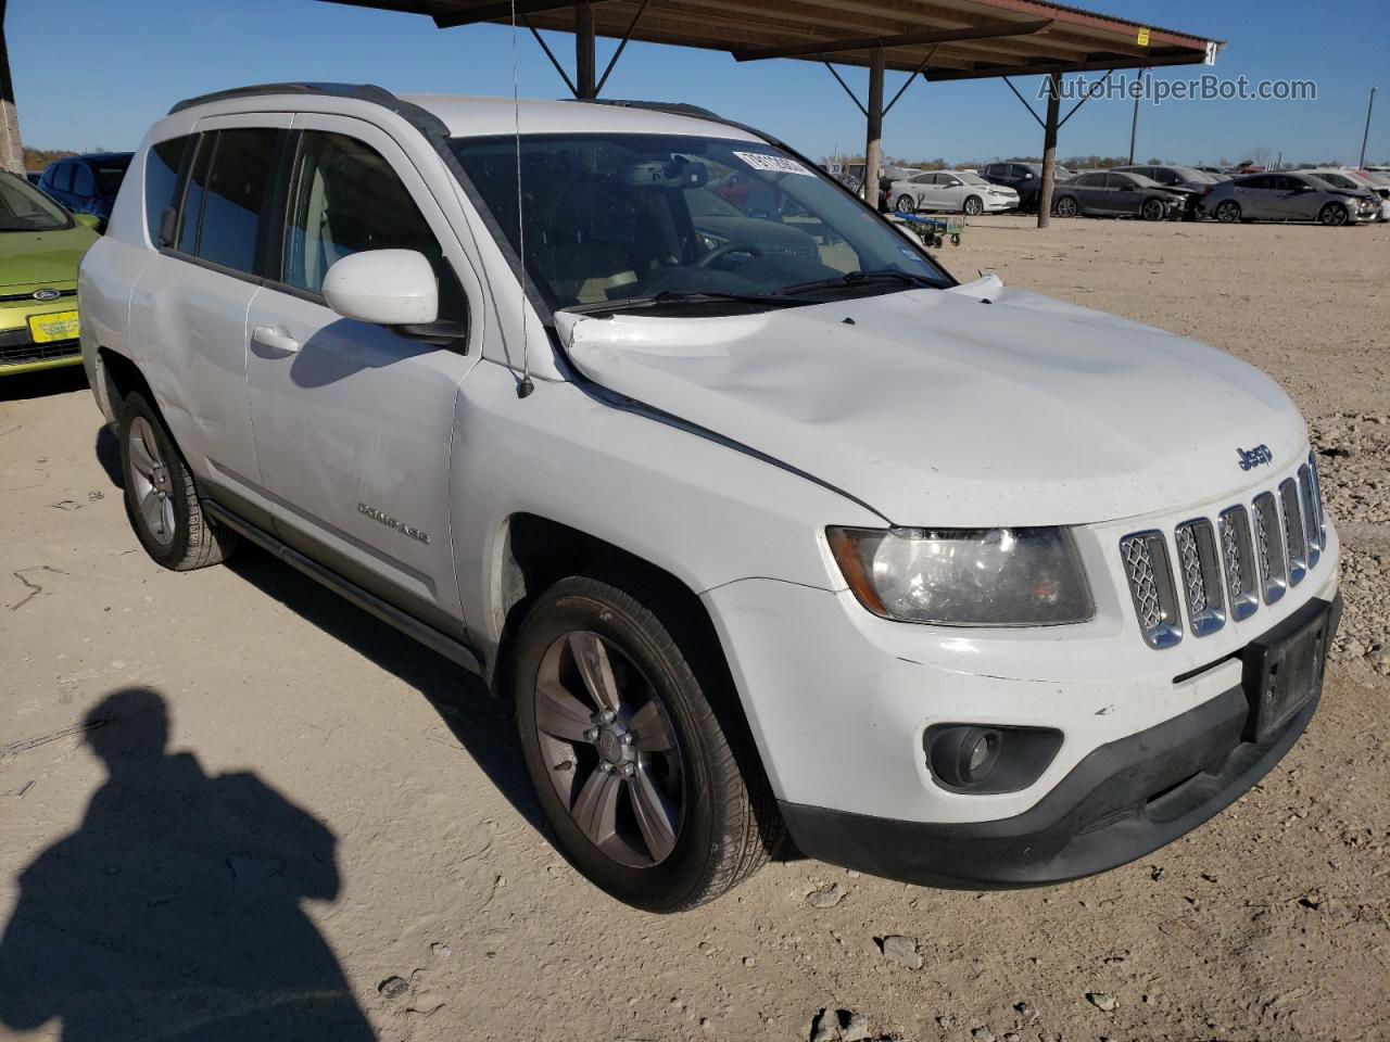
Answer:
[[[535,731],[532,702],[541,660],[550,645],[567,632],[588,629],[614,645],[637,664],[660,692],[676,729],[684,767],[684,810],[676,849],[660,864],[634,868],[612,860],[595,847],[570,817],[550,782]],[[517,735],[537,800],[559,839],[560,853],[595,885],[619,900],[648,911],[689,906],[714,873],[719,822],[716,774],[710,747],[723,742],[710,714],[695,711],[705,693],[692,664],[671,660],[662,646],[667,634],[649,632],[649,622],[602,595],[589,579],[563,579],[542,595],[517,634],[513,667],[513,699]],[[710,735],[713,728],[716,734]]]

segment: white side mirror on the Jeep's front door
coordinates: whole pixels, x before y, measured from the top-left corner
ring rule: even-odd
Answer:
[[[328,307],[373,325],[427,325],[439,317],[434,268],[416,250],[364,250],[324,275]]]

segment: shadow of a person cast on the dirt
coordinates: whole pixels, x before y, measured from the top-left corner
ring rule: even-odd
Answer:
[[[338,893],[335,838],[254,774],[167,753],[164,699],[107,696],[88,741],[110,777],[39,854],[0,938],[0,1024],[64,1042],[373,1039],[300,907]]]

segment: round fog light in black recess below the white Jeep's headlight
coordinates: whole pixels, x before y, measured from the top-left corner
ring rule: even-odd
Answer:
[[[1034,727],[935,724],[923,735],[931,777],[947,789],[970,793],[1017,792],[1036,782],[1058,749],[1062,732]]]

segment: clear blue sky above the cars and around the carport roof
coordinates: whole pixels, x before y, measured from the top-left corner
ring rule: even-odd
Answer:
[[[660,3],[660,0],[653,0]],[[1384,0],[1314,6],[1293,0],[1081,0],[1136,21],[1229,40],[1215,69],[1314,79],[1316,101],[1168,101],[1140,114],[1137,156],[1238,160],[1258,147],[1289,160],[1354,163],[1371,86],[1379,86],[1368,160],[1390,160],[1390,10]],[[78,8],[90,8],[82,13]],[[120,10],[120,17],[111,11]],[[393,90],[510,94],[506,26],[439,31],[418,15],[316,0],[10,0],[7,35],[26,144],[131,149],[170,104],[208,90],[284,79],[375,82]],[[1330,40],[1330,42],[1329,42]],[[550,36],[566,61],[573,38]],[[606,61],[614,42],[599,42]],[[521,93],[560,97],[564,85],[524,31]],[[860,92],[866,74],[842,69]],[[1129,75],[1129,74],[1125,74]],[[905,74],[888,74],[888,96]],[[1037,78],[1017,81],[1024,96]],[[863,149],[863,119],[824,67],[803,61],[739,65],[727,54],[630,44],[605,94],[680,100],[760,126],[803,153]],[[1063,108],[1063,111],[1066,111]],[[1123,154],[1130,103],[1094,100],[1063,129],[1059,154]],[[892,156],[949,161],[1041,150],[1041,131],[998,81],[909,88],[885,119]]]

